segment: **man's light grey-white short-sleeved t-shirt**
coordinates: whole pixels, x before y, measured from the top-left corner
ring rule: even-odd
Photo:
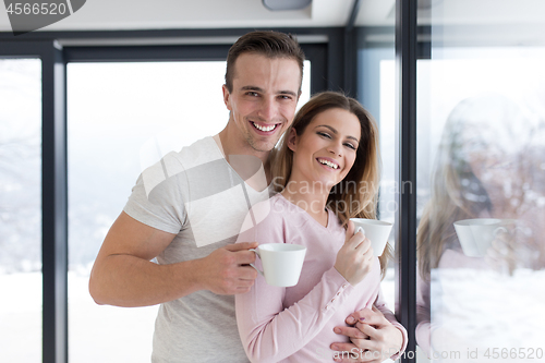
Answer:
[[[246,169],[245,177],[263,174],[265,180],[257,158],[235,157]],[[249,209],[269,193],[269,187],[257,192],[247,185],[214,138],[205,137],[144,170],[123,210],[147,226],[178,234],[157,256],[159,264],[173,264],[206,257],[234,243]],[[234,297],[201,290],[161,304],[152,361],[247,362],[237,329]]]

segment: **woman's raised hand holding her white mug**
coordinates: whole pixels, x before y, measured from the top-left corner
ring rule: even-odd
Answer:
[[[335,268],[350,285],[355,286],[371,271],[374,261],[371,241],[361,231],[354,234],[354,223],[350,220],[344,245],[337,253]]]

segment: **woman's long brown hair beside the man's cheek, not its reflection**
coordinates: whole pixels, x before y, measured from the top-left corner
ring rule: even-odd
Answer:
[[[378,184],[380,181],[380,154],[378,148],[378,128],[375,120],[358,100],[337,92],[314,95],[295,114],[293,123],[274,150],[271,171],[274,186],[281,192],[288,184],[293,167],[293,152],[288,147],[288,136],[293,129],[301,136],[311,121],[319,113],[339,108],[358,117],[361,137],[354,165],[347,177],[331,189],[327,199],[329,207],[346,226],[350,218],[376,219]],[[387,245],[380,256],[380,271],[386,274],[387,262],[391,257]]]

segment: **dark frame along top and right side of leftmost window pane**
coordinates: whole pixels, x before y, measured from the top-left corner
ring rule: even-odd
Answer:
[[[65,63],[55,40],[2,43],[1,58],[41,60],[43,361],[68,360]]]

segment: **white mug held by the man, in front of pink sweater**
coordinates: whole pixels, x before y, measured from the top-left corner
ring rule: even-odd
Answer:
[[[266,243],[261,244],[255,252],[262,259],[263,271],[250,264],[253,268],[265,277],[268,285],[277,287],[295,286],[303,268],[306,247],[300,244],[289,243]]]

